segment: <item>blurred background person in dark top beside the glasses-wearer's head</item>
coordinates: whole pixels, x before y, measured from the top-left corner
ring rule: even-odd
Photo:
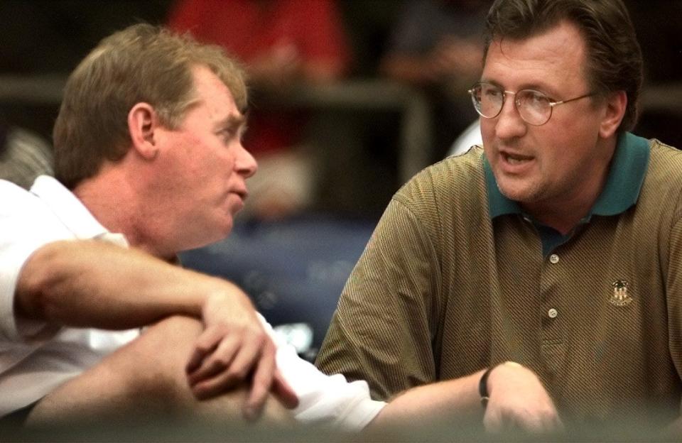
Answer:
[[[489,6],[485,0],[407,1],[389,38],[381,73],[423,88],[431,99],[432,162],[477,120],[467,89],[480,76]]]

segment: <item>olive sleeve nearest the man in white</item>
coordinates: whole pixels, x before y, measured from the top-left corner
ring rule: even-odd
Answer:
[[[435,380],[439,268],[420,217],[394,197],[345,285],[316,365],[366,380],[382,400]]]

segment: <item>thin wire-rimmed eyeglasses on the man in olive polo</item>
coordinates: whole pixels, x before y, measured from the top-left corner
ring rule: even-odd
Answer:
[[[534,89],[521,89],[517,92],[511,92],[505,91],[497,84],[478,82],[469,89],[469,94],[471,94],[471,101],[478,114],[486,119],[494,119],[499,116],[507,94],[514,95],[514,105],[516,105],[516,111],[519,112],[521,119],[524,119],[527,124],[540,126],[549,121],[554,106],[590,97],[594,95],[594,92],[575,97],[575,99],[553,102],[546,94]]]

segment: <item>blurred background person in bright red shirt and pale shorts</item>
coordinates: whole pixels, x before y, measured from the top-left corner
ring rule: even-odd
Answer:
[[[178,0],[168,25],[217,43],[247,67],[254,99],[244,146],[261,173],[249,183],[249,212],[261,219],[308,209],[315,197],[315,146],[304,111],[266,109],[261,99],[297,85],[328,84],[347,72],[350,50],[332,0]]]

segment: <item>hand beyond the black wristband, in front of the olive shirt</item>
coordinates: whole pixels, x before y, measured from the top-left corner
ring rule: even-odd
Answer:
[[[546,433],[563,429],[542,383],[519,363],[508,361],[493,368],[488,376],[488,393],[483,425],[489,432],[517,429]]]

